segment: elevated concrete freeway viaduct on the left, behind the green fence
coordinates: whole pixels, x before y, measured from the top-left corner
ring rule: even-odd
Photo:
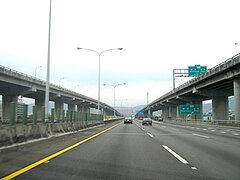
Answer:
[[[0,66],[0,95],[2,95],[2,119],[9,119],[9,105],[11,102],[17,102],[18,97],[27,97],[35,100],[37,111],[42,111],[45,105],[45,87],[46,82],[32,76],[17,72],[4,66]],[[90,108],[97,108],[97,100],[50,84],[50,101],[55,103],[55,109],[63,110],[64,103],[68,105],[68,110],[77,110],[89,112]],[[103,114],[113,115],[114,109],[101,102]],[[120,115],[116,112],[116,115]]]

